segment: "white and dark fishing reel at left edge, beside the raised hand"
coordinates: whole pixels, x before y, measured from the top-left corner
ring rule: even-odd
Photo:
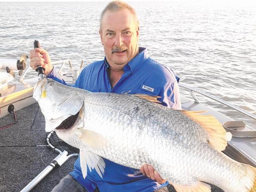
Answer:
[[[6,70],[15,78],[15,74],[12,70],[19,70],[19,76],[22,75],[23,70],[26,68],[27,55],[22,55],[20,59],[2,59],[0,58],[0,69]]]

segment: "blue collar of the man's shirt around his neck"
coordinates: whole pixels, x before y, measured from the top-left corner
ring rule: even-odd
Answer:
[[[139,47],[139,54],[136,57],[134,57],[129,63],[127,63],[127,65],[124,66],[124,72],[126,70],[130,70],[132,73],[134,73],[147,59],[147,48]],[[104,58],[104,65],[106,68],[109,67],[106,57]]]

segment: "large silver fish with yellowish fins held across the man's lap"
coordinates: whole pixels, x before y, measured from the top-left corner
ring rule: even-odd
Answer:
[[[213,116],[169,109],[147,97],[156,100],[89,92],[52,79],[39,81],[33,94],[46,131],[55,129],[80,149],[83,177],[87,166],[104,177],[104,157],[137,169],[150,164],[178,192],[211,191],[203,182],[225,192],[256,192],[256,169],[221,152],[227,134]]]

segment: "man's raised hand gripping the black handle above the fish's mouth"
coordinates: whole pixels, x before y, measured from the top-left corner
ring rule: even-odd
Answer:
[[[38,66],[45,68],[44,73],[46,77],[52,72],[53,69],[48,52],[41,47],[30,51],[30,66],[34,70],[36,70]]]

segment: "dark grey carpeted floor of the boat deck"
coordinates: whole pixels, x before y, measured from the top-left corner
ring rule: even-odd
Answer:
[[[19,192],[59,155],[46,147],[48,134],[45,132],[45,119],[37,103],[15,113],[19,122],[0,130],[0,192]],[[13,114],[0,118],[0,126],[12,122]],[[64,142],[58,142],[57,145],[60,150],[67,150]],[[69,154],[77,152],[71,148]],[[50,192],[73,169],[76,158],[71,157],[62,166],[52,170],[32,192]],[[223,192],[216,186],[211,187],[212,192]],[[168,188],[170,192],[176,191],[171,185]]]

